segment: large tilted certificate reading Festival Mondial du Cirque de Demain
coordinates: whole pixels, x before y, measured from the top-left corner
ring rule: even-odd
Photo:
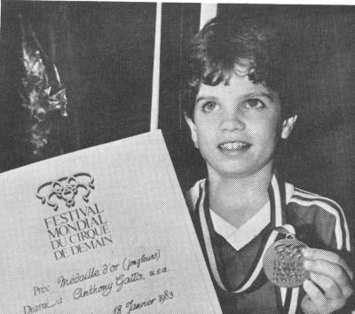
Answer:
[[[221,313],[160,131],[0,181],[2,313]]]

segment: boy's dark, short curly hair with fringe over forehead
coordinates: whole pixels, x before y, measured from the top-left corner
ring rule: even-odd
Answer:
[[[282,117],[287,118],[294,114],[296,67],[296,49],[289,35],[272,20],[209,20],[186,51],[185,114],[193,118],[201,83],[227,83],[238,68],[238,74],[248,75],[254,83],[264,82],[279,93]]]

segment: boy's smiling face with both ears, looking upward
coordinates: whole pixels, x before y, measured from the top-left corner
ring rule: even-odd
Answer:
[[[271,170],[280,137],[287,138],[296,122],[296,116],[282,122],[280,112],[278,93],[248,75],[234,74],[228,84],[201,84],[194,122],[187,122],[209,173],[248,177]]]

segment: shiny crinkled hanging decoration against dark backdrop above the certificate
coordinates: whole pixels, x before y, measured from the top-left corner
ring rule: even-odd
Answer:
[[[66,88],[61,84],[57,67],[44,53],[28,20],[19,16],[21,30],[21,105],[25,109],[25,146],[30,147],[29,162],[46,155],[53,114],[67,116]]]

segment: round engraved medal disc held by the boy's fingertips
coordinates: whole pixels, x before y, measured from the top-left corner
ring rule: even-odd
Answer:
[[[309,271],[304,269],[303,247],[307,246],[297,239],[280,239],[266,250],[264,273],[274,285],[299,287],[309,278]]]

